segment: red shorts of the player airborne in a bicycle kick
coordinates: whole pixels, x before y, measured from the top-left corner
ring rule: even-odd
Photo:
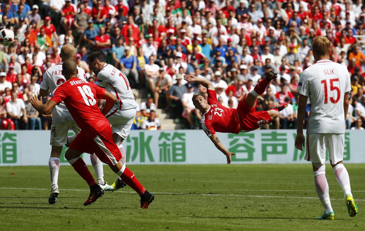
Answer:
[[[237,113],[240,132],[249,132],[265,124],[271,124],[272,121],[269,113],[267,111],[256,111],[256,106],[250,107],[247,105],[246,96],[238,102]]]

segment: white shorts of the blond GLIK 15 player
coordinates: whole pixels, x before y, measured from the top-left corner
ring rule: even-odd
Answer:
[[[305,160],[313,163],[324,164],[326,162],[326,149],[331,163],[335,164],[343,160],[345,148],[345,134],[313,133],[307,134]]]

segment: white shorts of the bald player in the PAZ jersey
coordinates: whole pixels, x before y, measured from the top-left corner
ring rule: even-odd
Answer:
[[[73,130],[76,134],[80,133],[81,129],[77,126],[74,120],[52,124],[51,125],[51,145],[62,146],[67,143],[67,133]]]

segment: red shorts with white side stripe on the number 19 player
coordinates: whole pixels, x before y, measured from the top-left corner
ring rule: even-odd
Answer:
[[[86,152],[89,154],[95,153],[103,163],[109,164],[110,166],[114,166],[122,159],[119,148],[113,142],[110,125],[106,126],[105,129],[93,139],[87,131],[81,130],[72,141],[70,148],[79,152]]]

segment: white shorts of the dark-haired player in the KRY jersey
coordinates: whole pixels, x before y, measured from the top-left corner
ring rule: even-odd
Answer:
[[[135,108],[127,109],[127,110],[120,110],[119,113],[114,114],[109,118],[111,118],[110,124],[113,133],[117,133],[120,137],[124,140],[127,139],[129,132],[131,130],[133,120],[136,117],[137,110]],[[115,123],[116,119],[118,118],[118,124]]]

